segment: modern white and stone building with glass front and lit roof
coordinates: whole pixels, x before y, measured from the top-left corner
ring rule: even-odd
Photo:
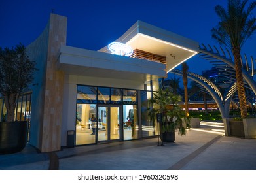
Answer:
[[[97,51],[67,46],[66,39],[67,18],[50,14],[27,46],[39,68],[29,144],[41,152],[154,137],[147,100],[168,71],[198,53],[198,42],[141,21]]]

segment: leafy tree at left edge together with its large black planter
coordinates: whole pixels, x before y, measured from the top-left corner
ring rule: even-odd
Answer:
[[[19,152],[27,143],[27,121],[14,120],[16,101],[33,81],[35,62],[26,54],[26,47],[0,48],[0,96],[4,98],[7,114],[0,122],[0,154]]]

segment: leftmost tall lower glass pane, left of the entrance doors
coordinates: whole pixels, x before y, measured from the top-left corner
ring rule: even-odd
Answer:
[[[76,144],[94,144],[96,142],[96,105],[77,104]]]

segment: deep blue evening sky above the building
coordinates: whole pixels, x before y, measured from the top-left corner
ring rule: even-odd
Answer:
[[[251,2],[251,1],[249,1]],[[67,45],[98,50],[119,38],[137,20],[204,44],[216,45],[210,30],[219,19],[214,7],[226,0],[0,0],[0,46],[25,46],[43,31],[50,12],[67,16]],[[256,12],[255,16],[256,16]],[[242,53],[256,57],[256,35]],[[187,61],[189,71],[202,73],[212,65],[203,59]]]

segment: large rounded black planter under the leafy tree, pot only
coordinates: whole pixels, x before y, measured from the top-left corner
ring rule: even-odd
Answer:
[[[0,154],[22,151],[27,144],[27,122],[0,122]]]

